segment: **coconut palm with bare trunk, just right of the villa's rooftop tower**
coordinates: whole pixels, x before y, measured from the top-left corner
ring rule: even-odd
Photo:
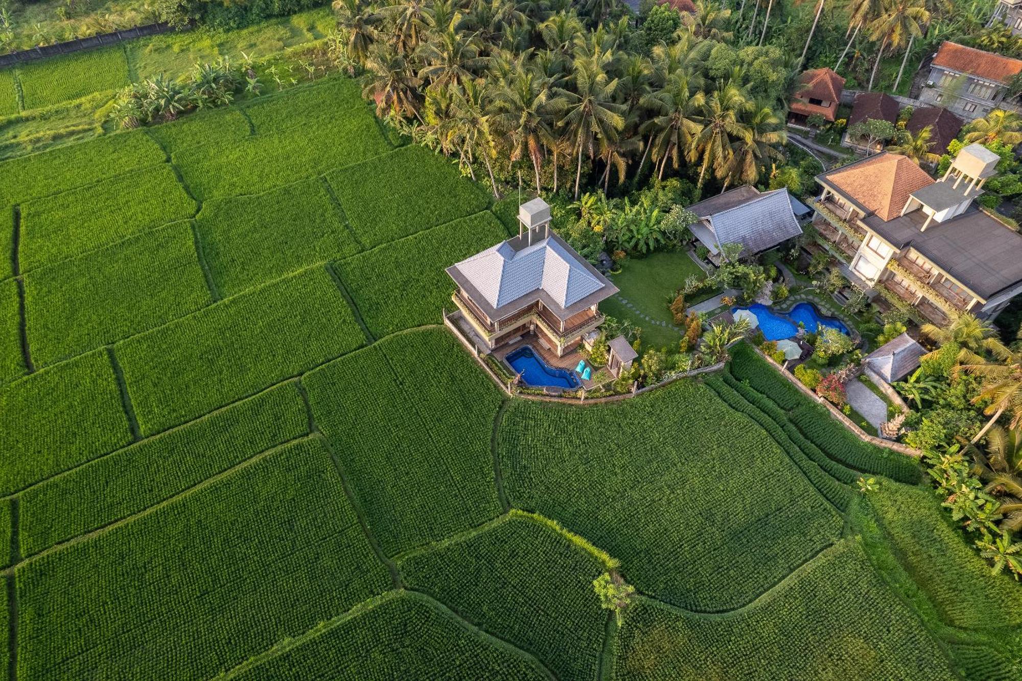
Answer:
[[[576,61],[572,82],[572,89],[562,90],[567,105],[561,125],[571,131],[575,140],[578,166],[574,197],[577,199],[583,152],[588,149],[590,157],[593,157],[597,137],[609,140],[617,136],[624,127],[624,106],[614,101],[617,79],[611,79],[602,70]]]

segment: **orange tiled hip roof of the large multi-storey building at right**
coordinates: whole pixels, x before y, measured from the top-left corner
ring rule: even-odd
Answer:
[[[885,222],[901,214],[909,194],[933,184],[933,178],[912,160],[886,151],[822,177],[834,189],[865,206]]]

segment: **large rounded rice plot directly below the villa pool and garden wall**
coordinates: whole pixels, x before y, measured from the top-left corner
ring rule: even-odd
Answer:
[[[504,489],[512,505],[619,558],[644,592],[697,610],[738,607],[843,524],[747,425],[689,381],[585,409],[516,401],[498,433]]]

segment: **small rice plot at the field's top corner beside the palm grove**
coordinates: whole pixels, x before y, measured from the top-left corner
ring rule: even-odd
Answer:
[[[358,81],[333,77],[262,97],[245,104],[244,109],[256,132],[266,134],[290,128],[316,129],[338,114],[366,106]]]

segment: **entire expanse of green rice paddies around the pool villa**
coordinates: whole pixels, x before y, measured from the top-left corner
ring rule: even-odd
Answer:
[[[11,679],[1022,675],[1022,588],[750,349],[504,395],[439,322],[507,230],[349,81],[0,163],[0,228]]]

